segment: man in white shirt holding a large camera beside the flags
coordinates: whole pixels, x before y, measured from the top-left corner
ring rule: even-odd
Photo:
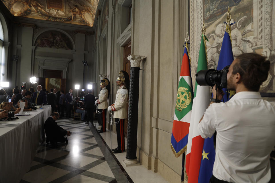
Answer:
[[[236,94],[221,102],[223,92],[213,87],[213,99],[198,131],[211,138],[216,156],[210,182],[268,182],[269,154],[275,143],[275,105],[262,99],[260,85],[267,79],[270,61],[254,53],[236,57],[227,73],[227,89]],[[217,98],[216,98],[217,96]],[[216,102],[216,103],[215,103]]]

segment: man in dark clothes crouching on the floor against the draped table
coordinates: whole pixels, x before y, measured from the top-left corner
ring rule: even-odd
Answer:
[[[66,131],[57,125],[55,120],[57,120],[58,118],[59,114],[57,112],[54,112],[44,124],[44,129],[47,137],[46,143],[51,143],[53,146],[57,146],[58,142],[66,142],[66,144],[68,144],[68,140],[64,136],[70,136],[71,134],[70,131]]]

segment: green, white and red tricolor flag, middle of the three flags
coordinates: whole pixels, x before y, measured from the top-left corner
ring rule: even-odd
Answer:
[[[199,61],[197,72],[200,70],[207,69],[207,58],[205,50],[204,35],[201,38],[201,47],[199,52]],[[203,144],[204,139],[200,136],[197,126],[205,110],[208,108],[210,103],[210,91],[208,86],[200,86],[196,82],[194,101],[192,106],[192,114],[190,119],[188,146],[186,150],[186,174],[188,176],[188,183],[197,183],[199,178]],[[205,180],[209,182],[209,180]]]

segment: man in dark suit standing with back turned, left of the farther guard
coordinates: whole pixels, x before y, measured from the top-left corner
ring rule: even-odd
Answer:
[[[95,96],[92,95],[92,90],[89,90],[88,95],[85,96],[84,104],[85,104],[85,110],[87,111],[87,122],[85,123],[89,124],[89,121],[91,121],[91,123],[93,124]]]

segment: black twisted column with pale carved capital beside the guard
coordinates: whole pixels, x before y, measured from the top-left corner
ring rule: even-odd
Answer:
[[[130,55],[131,62],[130,91],[127,126],[127,152],[125,164],[136,164],[137,161],[137,118],[138,118],[138,92],[140,82],[140,62],[144,56]]]

